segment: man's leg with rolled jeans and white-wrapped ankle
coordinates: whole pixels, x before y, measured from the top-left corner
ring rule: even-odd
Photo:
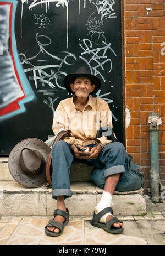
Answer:
[[[122,143],[109,143],[103,148],[98,159],[105,166],[104,168],[95,169],[92,174],[92,180],[96,183],[96,185],[102,187],[104,189],[100,202],[98,202],[95,213],[102,211],[106,207],[110,207],[112,205],[112,195],[116,188],[116,185],[119,181],[120,174],[125,171],[125,148]],[[96,166],[97,168],[97,166]],[[100,222],[106,223],[110,218],[112,218],[112,214],[106,213],[104,216],[100,218]],[[114,223],[114,227],[123,226],[122,223]]]

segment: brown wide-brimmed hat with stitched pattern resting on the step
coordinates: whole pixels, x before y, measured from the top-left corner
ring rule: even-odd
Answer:
[[[51,148],[36,138],[24,139],[12,149],[8,166],[13,179],[25,187],[47,183],[46,164]]]

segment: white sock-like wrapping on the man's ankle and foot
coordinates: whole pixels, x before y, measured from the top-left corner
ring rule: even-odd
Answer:
[[[111,193],[109,193],[107,191],[103,191],[102,192],[101,200],[97,203],[97,205],[95,207],[95,213],[97,214],[98,212],[101,212],[106,207],[111,207],[112,205],[113,205],[113,202],[112,202],[112,195],[111,195]],[[106,223],[106,217],[108,215],[112,215],[112,213],[111,212],[107,212],[105,215],[103,215],[100,218],[99,222]]]

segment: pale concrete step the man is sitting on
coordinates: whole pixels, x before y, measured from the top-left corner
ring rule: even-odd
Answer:
[[[70,188],[73,196],[65,200],[72,216],[91,217],[102,195],[103,190],[89,181],[92,169],[89,166],[87,167],[86,174],[83,176],[82,171],[85,173],[83,165],[78,164],[72,167]],[[1,158],[0,175],[0,215],[53,215],[57,202],[52,199],[52,188],[50,186],[44,185],[36,189],[21,186],[10,176],[8,158]],[[143,189],[130,192],[115,191],[112,201],[114,202],[114,215],[129,216],[146,212]],[[138,207],[141,207],[140,212],[137,210]]]

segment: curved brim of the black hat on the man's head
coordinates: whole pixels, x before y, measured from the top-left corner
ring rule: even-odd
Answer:
[[[92,84],[94,84],[96,87],[94,89],[94,91],[90,92],[90,94],[94,94],[96,93],[100,87],[101,87],[101,81],[100,79],[98,79],[97,76],[94,76],[94,75],[91,75],[91,74],[86,74],[86,73],[79,73],[79,74],[69,74],[67,76],[65,76],[64,78],[64,86],[65,88],[70,92],[70,93],[73,93],[74,92],[72,91],[72,89],[70,88],[70,83],[73,83],[74,80],[77,78],[77,77],[80,77],[80,76],[85,76],[85,77],[88,77],[91,81],[92,81]]]

